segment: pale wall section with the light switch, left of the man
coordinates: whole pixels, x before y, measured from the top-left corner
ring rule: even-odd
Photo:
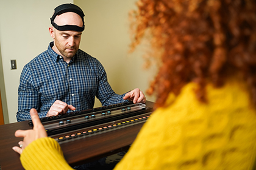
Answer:
[[[16,122],[18,86],[23,66],[47,49],[52,41],[48,32],[50,17],[59,4],[66,0],[12,0],[0,1],[0,68],[1,94],[5,123]],[[10,60],[16,60],[17,69],[10,69]],[[0,62],[1,64],[1,62]],[[6,118],[8,117],[8,118]]]

